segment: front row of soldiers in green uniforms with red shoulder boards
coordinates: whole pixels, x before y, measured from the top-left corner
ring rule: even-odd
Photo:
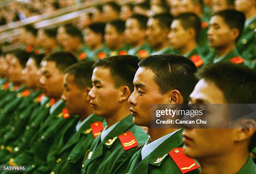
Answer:
[[[77,62],[22,50],[0,60],[1,165],[26,165],[27,174],[256,171],[253,119],[243,129],[151,128],[151,104],[255,103],[256,72],[244,65],[197,72],[177,54]]]

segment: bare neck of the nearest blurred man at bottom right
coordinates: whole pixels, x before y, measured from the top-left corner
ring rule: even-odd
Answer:
[[[202,174],[236,174],[246,164],[248,157],[248,152],[240,151],[236,153],[234,151],[232,154],[224,154],[222,157],[211,156],[198,159],[198,162]]]

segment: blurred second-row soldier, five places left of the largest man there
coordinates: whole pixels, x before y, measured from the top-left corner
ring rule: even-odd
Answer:
[[[98,60],[107,57],[108,47],[103,43],[105,23],[97,22],[88,25],[84,30],[84,59]]]

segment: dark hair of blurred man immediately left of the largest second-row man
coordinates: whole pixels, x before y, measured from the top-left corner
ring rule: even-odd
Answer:
[[[200,31],[201,31],[201,20],[200,17],[197,16],[195,13],[188,12],[188,13],[181,13],[174,20],[179,20],[182,27],[184,29],[192,28],[195,30],[196,40],[199,41]]]

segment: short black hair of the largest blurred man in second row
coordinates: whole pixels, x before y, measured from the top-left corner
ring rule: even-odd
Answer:
[[[229,9],[216,12],[212,16],[222,17],[225,23],[230,27],[230,29],[237,28],[239,30],[238,38],[241,36],[243,32],[243,25],[246,20],[243,12]]]

